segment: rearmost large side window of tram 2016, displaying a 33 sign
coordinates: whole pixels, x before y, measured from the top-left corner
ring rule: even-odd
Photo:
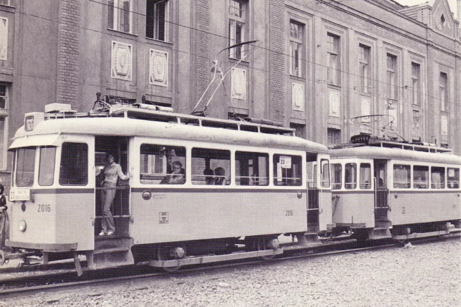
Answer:
[[[274,154],[274,185],[302,185],[302,164],[300,156]],[[328,164],[327,164],[328,165]],[[328,167],[328,166],[327,166]]]

